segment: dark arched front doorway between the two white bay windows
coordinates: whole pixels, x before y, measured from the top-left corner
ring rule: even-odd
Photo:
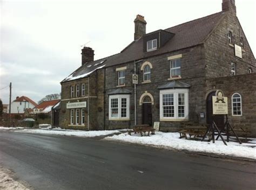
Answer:
[[[152,102],[150,96],[144,96],[142,103],[142,124],[152,126]]]

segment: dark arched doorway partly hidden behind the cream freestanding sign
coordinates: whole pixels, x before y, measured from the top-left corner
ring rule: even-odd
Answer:
[[[206,122],[207,124],[212,123],[212,96],[215,96],[215,92],[208,94],[206,98]],[[219,129],[224,128],[224,115],[214,115],[214,122]]]

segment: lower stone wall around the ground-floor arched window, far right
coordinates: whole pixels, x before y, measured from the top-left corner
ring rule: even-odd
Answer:
[[[228,120],[235,127],[248,128],[250,136],[256,136],[256,73],[207,79],[206,89],[211,92],[223,90],[228,98]],[[215,88],[214,88],[215,87]],[[232,116],[232,95],[238,93],[242,99],[242,116]]]

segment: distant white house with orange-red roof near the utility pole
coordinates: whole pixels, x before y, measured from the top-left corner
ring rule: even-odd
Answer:
[[[17,96],[16,100],[11,102],[11,114],[24,114],[25,109],[33,108],[36,105],[37,103],[32,101],[29,97]],[[9,112],[9,108],[8,108],[8,112]]]

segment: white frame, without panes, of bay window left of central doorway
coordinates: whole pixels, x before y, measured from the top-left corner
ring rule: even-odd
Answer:
[[[111,99],[118,99],[118,114],[117,117],[112,117],[111,115]],[[122,110],[122,98],[126,98],[126,117],[121,116]],[[119,94],[109,96],[109,120],[130,120],[130,95],[129,94]]]

